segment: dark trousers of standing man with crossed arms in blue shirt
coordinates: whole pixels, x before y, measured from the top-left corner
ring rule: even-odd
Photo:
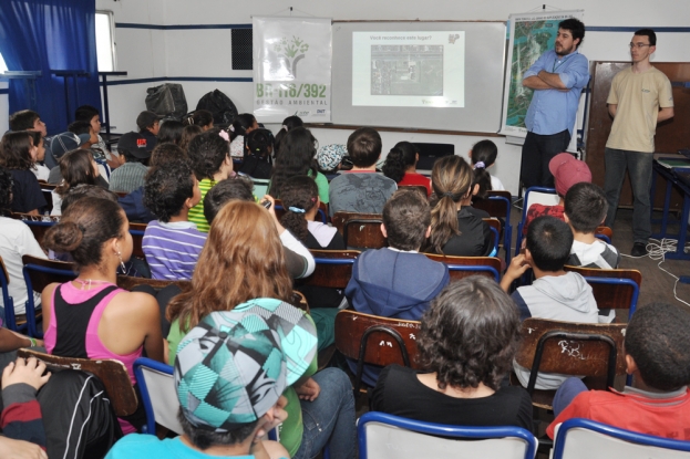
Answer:
[[[569,143],[568,129],[552,135],[527,133],[519,167],[519,179],[524,187],[554,188],[554,176],[548,170],[548,161],[565,152]]]

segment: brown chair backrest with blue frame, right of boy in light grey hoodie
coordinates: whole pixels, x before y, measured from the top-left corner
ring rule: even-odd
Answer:
[[[565,270],[577,272],[587,280],[600,310],[630,310],[628,317],[632,317],[642,286],[641,272],[638,270],[600,270],[581,267],[565,267]]]

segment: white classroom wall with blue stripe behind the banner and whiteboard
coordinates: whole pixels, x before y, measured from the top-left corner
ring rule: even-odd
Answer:
[[[315,15],[333,20],[498,20],[511,13],[527,12],[540,3],[526,0],[485,0],[484,2],[428,0],[401,2],[399,0],[257,0],[254,2],[227,0],[96,0],[97,10],[110,10],[115,22],[157,25],[177,24],[236,24],[250,23],[253,14]],[[577,3],[552,0],[558,9],[584,9],[584,22],[598,27],[688,27],[688,0],[580,0]],[[590,60],[628,60],[628,32],[588,32],[580,51]],[[688,33],[660,33],[657,62],[690,62]],[[224,30],[115,30],[117,70],[128,75],[111,80],[152,77],[250,77],[249,71],[233,71],[230,64],[230,31]],[[253,111],[251,84],[236,82],[181,82],[189,109],[205,93],[218,88],[226,93],[241,112]],[[145,109],[146,88],[161,84],[138,83],[115,85],[109,88],[112,125],[115,132],[134,129],[138,112]],[[0,95],[0,129],[7,123],[7,96]],[[321,145],[343,143],[349,133],[338,129],[315,129]],[[384,152],[395,142],[453,143],[457,154],[465,152],[482,137],[382,133]],[[507,145],[503,137],[493,138],[500,156],[495,170],[506,188],[517,192],[521,148]]]

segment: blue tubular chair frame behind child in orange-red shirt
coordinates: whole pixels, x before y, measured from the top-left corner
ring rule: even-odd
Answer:
[[[690,452],[690,441],[672,440],[670,438],[653,437],[651,435],[638,434],[618,427],[608,426],[606,424],[596,423],[590,419],[573,418],[560,425],[558,434],[554,441],[554,459],[563,459],[563,452],[570,429],[588,429],[598,434],[608,435],[619,440],[629,441],[631,444],[651,446],[657,448],[671,449],[674,451]]]

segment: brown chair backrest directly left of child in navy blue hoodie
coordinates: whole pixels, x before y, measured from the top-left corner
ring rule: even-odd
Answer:
[[[362,252],[359,250],[310,250],[316,261],[313,273],[300,279],[299,285],[344,289],[352,277],[354,260]]]

